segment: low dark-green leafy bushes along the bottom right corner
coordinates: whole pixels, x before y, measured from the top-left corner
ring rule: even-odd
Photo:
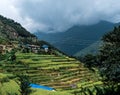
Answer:
[[[120,95],[120,85],[94,86],[93,89],[82,88],[73,92],[74,95]]]

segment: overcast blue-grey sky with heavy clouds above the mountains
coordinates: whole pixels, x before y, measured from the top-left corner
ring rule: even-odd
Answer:
[[[100,20],[120,22],[120,0],[0,0],[0,14],[30,32],[61,32]]]

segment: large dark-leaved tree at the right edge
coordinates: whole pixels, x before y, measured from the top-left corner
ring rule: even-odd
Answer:
[[[104,81],[120,82],[120,27],[105,34],[102,38],[103,46],[99,54],[101,75]]]

